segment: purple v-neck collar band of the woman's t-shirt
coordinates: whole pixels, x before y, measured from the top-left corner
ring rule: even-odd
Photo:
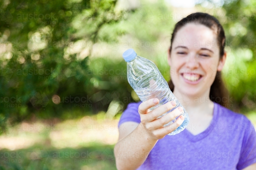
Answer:
[[[218,119],[218,104],[214,102],[214,108],[213,108],[213,116],[210,125],[201,133],[197,135],[193,135],[191,132],[189,132],[186,128],[184,129],[184,135],[192,142],[197,142],[201,139],[204,139],[206,136],[208,136],[212,129],[216,126],[217,119]]]

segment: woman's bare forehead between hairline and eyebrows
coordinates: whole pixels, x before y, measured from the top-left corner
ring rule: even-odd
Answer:
[[[175,48],[179,45],[188,48],[211,48],[215,50],[217,35],[205,25],[186,24],[177,31],[174,37],[172,46]]]

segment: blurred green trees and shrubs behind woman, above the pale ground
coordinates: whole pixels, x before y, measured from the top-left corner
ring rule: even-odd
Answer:
[[[185,17],[164,1],[121,8],[111,0],[4,0],[0,8],[0,118],[13,121],[122,112],[137,97],[121,54],[134,48],[168,81],[170,34]],[[216,16],[226,31],[231,109],[255,109],[255,2],[195,9]]]

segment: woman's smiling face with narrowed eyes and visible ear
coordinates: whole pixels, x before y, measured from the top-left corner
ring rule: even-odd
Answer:
[[[180,28],[169,51],[168,63],[174,91],[189,97],[209,96],[217,71],[226,59],[219,56],[217,34],[202,24]]]

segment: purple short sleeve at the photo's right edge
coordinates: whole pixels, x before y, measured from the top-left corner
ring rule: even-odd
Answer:
[[[256,131],[252,123],[245,117],[246,124],[241,148],[241,155],[237,164],[237,169],[244,169],[256,163]]]

